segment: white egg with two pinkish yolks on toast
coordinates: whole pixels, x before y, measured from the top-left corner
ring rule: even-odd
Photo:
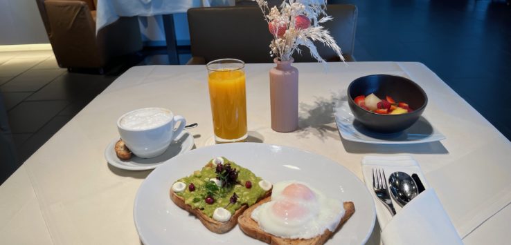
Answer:
[[[326,197],[303,182],[274,184],[271,202],[253,210],[251,218],[263,231],[278,237],[310,239],[337,228],[345,210],[343,202]]]

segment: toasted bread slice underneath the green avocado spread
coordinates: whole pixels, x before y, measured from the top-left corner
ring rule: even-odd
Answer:
[[[262,200],[262,199],[269,197],[270,195],[271,195],[271,190],[268,190],[265,193],[265,195],[263,195],[262,197],[260,197],[258,199],[258,202],[260,202],[260,200]],[[244,212],[244,210],[246,210],[246,208],[249,208],[249,206],[247,204],[244,204],[241,206],[241,208],[238,208],[235,211],[233,216],[231,216],[231,219],[229,219],[226,222],[217,222],[215,219],[212,219],[212,218],[208,217],[208,215],[202,213],[200,209],[192,208],[192,206],[185,204],[184,198],[176,195],[176,193],[174,193],[174,191],[172,189],[170,189],[170,199],[172,199],[172,202],[174,202],[174,204],[176,204],[180,208],[187,210],[189,213],[192,213],[197,218],[199,218],[200,221],[202,222],[202,224],[204,224],[204,226],[206,226],[206,228],[208,228],[209,231],[213,231],[214,233],[219,233],[219,234],[231,231],[231,229],[234,226],[236,226],[236,224],[237,224],[237,218],[240,217],[240,215],[242,215],[242,213]],[[255,202],[255,204],[253,204],[252,206],[255,206],[257,204],[258,203]]]

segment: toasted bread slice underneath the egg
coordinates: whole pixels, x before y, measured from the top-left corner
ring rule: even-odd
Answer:
[[[274,235],[271,235],[269,233],[265,233],[265,231],[262,231],[262,229],[259,227],[258,222],[255,222],[251,218],[252,211],[260,206],[261,204],[264,204],[265,202],[271,201],[271,197],[267,197],[265,199],[262,199],[257,204],[252,205],[250,208],[248,208],[243,215],[241,215],[237,219],[237,223],[240,225],[240,229],[246,234],[249,235],[255,239],[259,239],[262,242],[266,242],[268,244],[287,244],[287,245],[298,245],[298,244],[324,244],[334,233],[332,231],[329,231],[326,229],[325,233],[323,235],[319,235],[317,237],[313,237],[311,239],[289,239],[289,238],[283,238],[283,237],[276,237]],[[346,210],[346,213],[344,213],[344,216],[341,218],[341,222],[339,222],[339,225],[335,229],[335,231],[338,231],[341,226],[346,223],[346,221],[355,213],[355,205],[353,202],[344,202],[344,209]]]

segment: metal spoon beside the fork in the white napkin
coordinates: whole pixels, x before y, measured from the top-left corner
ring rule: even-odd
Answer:
[[[407,173],[394,172],[388,177],[388,186],[392,196],[400,206],[404,206],[419,194],[417,184]]]

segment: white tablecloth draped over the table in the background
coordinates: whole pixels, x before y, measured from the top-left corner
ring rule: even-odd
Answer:
[[[234,0],[98,0],[96,32],[119,17],[154,16],[186,12],[189,8],[233,6]]]

